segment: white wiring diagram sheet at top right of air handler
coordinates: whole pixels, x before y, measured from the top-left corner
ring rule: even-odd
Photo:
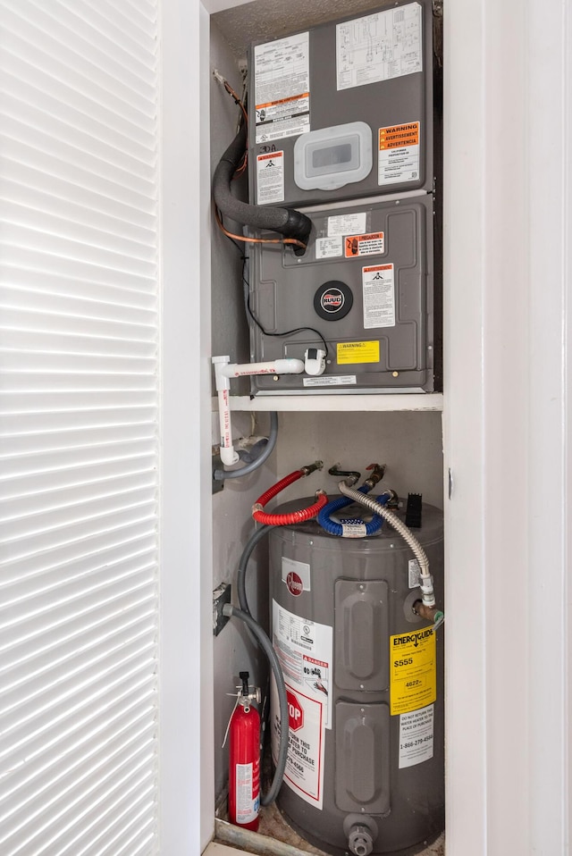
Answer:
[[[421,17],[410,3],[338,24],[338,89],[423,71]]]

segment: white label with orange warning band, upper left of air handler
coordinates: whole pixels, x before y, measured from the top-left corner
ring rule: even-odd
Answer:
[[[309,34],[254,49],[257,143],[310,130]]]

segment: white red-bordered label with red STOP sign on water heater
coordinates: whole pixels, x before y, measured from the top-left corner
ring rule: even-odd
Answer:
[[[286,684],[288,698],[288,757],[284,782],[292,791],[322,809],[324,802],[324,705]],[[280,709],[272,681],[272,755],[278,759]]]

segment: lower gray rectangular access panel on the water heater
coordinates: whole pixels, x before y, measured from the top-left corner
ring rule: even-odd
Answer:
[[[390,810],[390,711],[386,704],[338,701],[335,799],[341,811]]]

